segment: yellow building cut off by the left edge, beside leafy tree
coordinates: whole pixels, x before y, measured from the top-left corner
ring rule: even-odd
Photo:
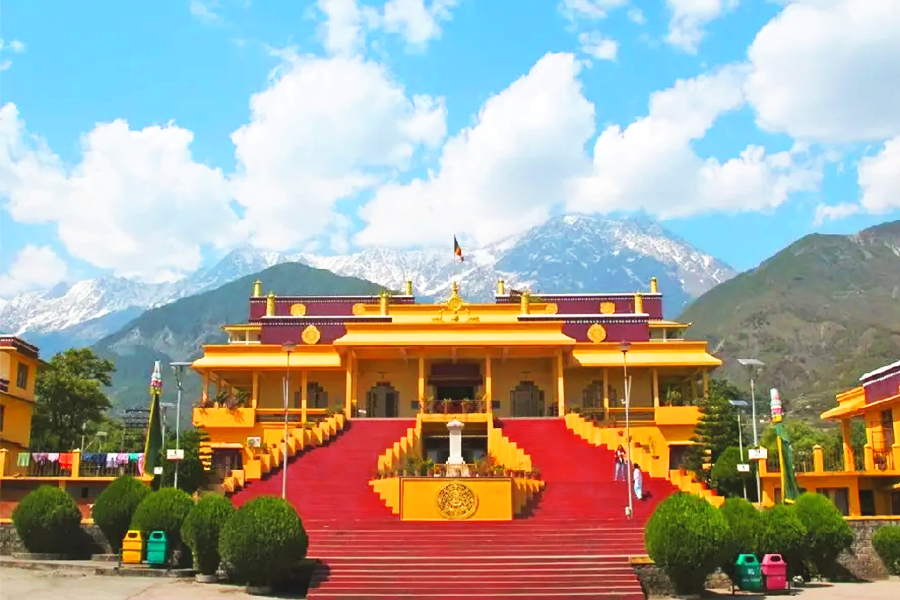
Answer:
[[[0,449],[7,456],[28,451],[38,349],[14,336],[0,336]]]

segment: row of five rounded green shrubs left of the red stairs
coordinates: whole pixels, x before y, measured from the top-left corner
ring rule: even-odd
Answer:
[[[223,496],[194,502],[174,488],[156,492],[130,476],[116,479],[94,504],[94,522],[114,552],[122,549],[129,529],[163,531],[170,566],[186,566],[212,575],[221,567],[229,577],[249,585],[276,585],[292,577],[306,557],[309,540],[293,506],[260,497],[236,510]],[[29,552],[67,554],[78,539],[81,513],[75,500],[58,487],[42,486],[28,494],[12,515]],[[190,549],[190,554],[183,552]]]

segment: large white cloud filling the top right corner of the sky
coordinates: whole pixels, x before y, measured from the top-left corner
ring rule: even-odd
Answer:
[[[888,0],[799,0],[757,34],[747,94],[758,123],[819,142],[900,134],[900,10]]]

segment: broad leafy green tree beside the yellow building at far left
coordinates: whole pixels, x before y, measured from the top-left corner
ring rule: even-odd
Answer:
[[[111,385],[115,370],[112,361],[98,357],[90,348],[55,354],[37,374],[32,447],[76,448],[82,428],[101,421],[109,409],[103,388]]]

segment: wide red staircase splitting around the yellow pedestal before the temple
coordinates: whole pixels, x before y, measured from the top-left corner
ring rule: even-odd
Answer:
[[[653,497],[624,516],[626,484],[612,453],[576,437],[562,419],[504,419],[504,433],[532,457],[546,490],[509,522],[401,522],[368,486],[375,463],[413,421],[358,419],[337,439],[288,466],[288,499],[326,567],[317,598],[615,598],[643,591],[628,557],[643,555],[643,523],[672,493],[644,478]],[[234,495],[242,504],[281,494],[280,471]]]

